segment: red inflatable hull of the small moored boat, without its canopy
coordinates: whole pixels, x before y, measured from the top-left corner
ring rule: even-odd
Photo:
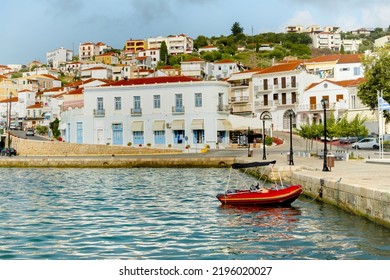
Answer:
[[[217,198],[222,204],[229,205],[290,205],[301,193],[302,186],[292,185],[283,189],[268,189],[267,192],[234,190],[218,194]]]

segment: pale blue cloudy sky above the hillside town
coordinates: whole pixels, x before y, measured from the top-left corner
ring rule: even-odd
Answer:
[[[186,34],[284,32],[287,25],[388,28],[388,0],[1,0],[0,65],[46,62],[61,46],[102,41],[122,49],[127,39]]]

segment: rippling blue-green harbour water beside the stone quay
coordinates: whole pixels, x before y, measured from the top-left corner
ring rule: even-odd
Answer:
[[[222,206],[228,169],[0,169],[0,259],[390,259],[390,229],[301,196]]]

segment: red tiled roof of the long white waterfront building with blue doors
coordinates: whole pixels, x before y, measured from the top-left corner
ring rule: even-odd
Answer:
[[[136,78],[129,80],[116,81],[105,86],[131,86],[131,85],[153,85],[166,83],[185,83],[185,82],[200,82],[201,80],[187,77],[187,76],[164,76],[164,77],[150,77],[150,78]]]

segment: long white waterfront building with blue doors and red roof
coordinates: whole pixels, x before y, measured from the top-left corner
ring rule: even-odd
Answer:
[[[229,143],[229,84],[185,76],[122,80],[84,89],[84,107],[64,111],[68,142],[200,150]]]

